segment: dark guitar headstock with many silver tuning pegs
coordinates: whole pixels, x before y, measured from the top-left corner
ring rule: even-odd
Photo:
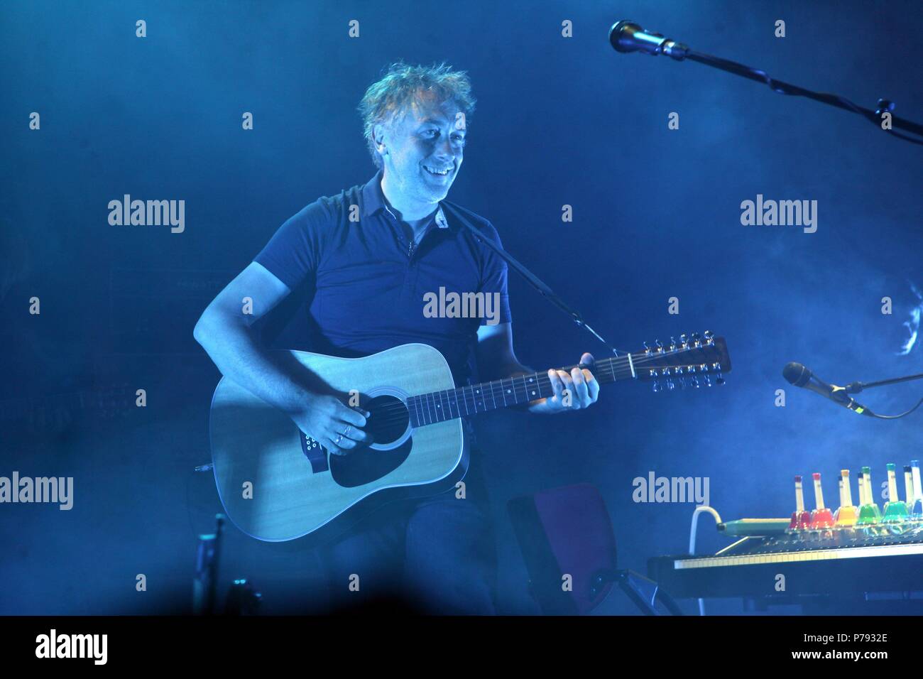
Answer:
[[[698,389],[702,386],[725,383],[725,372],[731,370],[731,357],[727,353],[724,337],[715,337],[711,331],[681,334],[678,340],[670,337],[664,345],[656,340],[653,346],[644,343],[644,351],[632,354],[634,367],[641,382],[653,382],[653,391],[662,392]]]

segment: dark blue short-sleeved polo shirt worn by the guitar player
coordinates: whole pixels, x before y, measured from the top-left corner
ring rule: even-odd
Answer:
[[[450,205],[500,244],[490,222]],[[356,358],[421,342],[442,353],[462,386],[473,374],[477,329],[488,319],[427,318],[424,296],[439,296],[440,287],[447,294],[480,292],[491,299],[498,293],[497,321],[509,322],[507,263],[441,206],[427,229],[412,246],[381,191],[379,171],[365,186],[307,205],[254,261],[290,290],[308,285],[309,350]]]

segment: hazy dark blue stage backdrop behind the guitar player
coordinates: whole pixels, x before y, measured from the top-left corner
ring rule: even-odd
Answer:
[[[721,389],[620,384],[588,411],[495,413],[479,439],[495,504],[502,612],[533,612],[504,505],[581,481],[604,493],[620,564],[685,552],[692,504],[639,504],[631,480],[708,477],[725,519],[785,516],[794,474],[920,455],[920,416],[857,418],[787,390],[785,362],[833,382],[923,370],[896,356],[920,271],[920,148],[867,121],[695,63],[618,55],[632,18],[777,79],[923,119],[917,2],[6,3],[0,22],[3,397],[126,386],[145,409],[72,410],[49,435],[6,429],[0,475],[74,476],[75,507],[0,506],[0,612],[174,612],[195,537],[220,509],[207,418],[219,374],[192,327],[282,222],[374,172],[355,106],[390,61],[469,71],[477,111],[450,193],[610,342],[713,330]],[[148,37],[135,37],[144,18]],[[360,21],[350,39],[348,22]],[[786,37],[773,36],[774,21]],[[561,21],[573,21],[573,38]],[[41,131],[28,128],[30,112]],[[254,114],[255,128],[241,129]],[[667,115],[680,115],[678,130]],[[109,200],[186,200],[186,232],[110,226]],[[740,224],[740,202],[818,200],[819,227]],[[573,206],[572,223],[561,206]],[[41,316],[28,299],[41,297]],[[516,349],[540,370],[605,348],[510,274]],[[680,314],[667,313],[678,297]],[[284,310],[284,309],[282,309]],[[291,311],[292,309],[288,309]],[[273,333],[283,320],[272,321]],[[361,322],[357,319],[356,322]],[[290,327],[279,341],[291,336]],[[920,383],[863,394],[912,405]],[[130,403],[130,401],[129,401]],[[901,483],[903,492],[903,482]],[[856,497],[855,477],[853,485]],[[881,502],[881,500],[880,500]],[[809,497],[809,507],[813,506]],[[703,519],[699,546],[719,539]],[[249,576],[267,612],[300,610],[306,554],[228,531],[222,576]],[[135,576],[148,576],[148,591]],[[736,610],[729,606],[727,610]],[[600,612],[633,612],[614,594]]]

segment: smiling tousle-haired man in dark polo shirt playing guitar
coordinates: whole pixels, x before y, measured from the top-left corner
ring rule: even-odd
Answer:
[[[289,415],[330,455],[364,446],[366,413],[319,393],[270,358],[252,324],[307,285],[310,346],[361,357],[419,342],[446,358],[458,386],[532,373],[513,352],[507,265],[450,224],[440,202],[462,167],[471,83],[446,65],[392,65],[359,106],[378,173],[364,186],[322,197],[289,219],[254,261],[210,303],[195,336],[219,370]],[[483,236],[497,230],[464,211]],[[445,288],[499,300],[496,318],[424,312]],[[241,299],[253,300],[251,314]],[[582,364],[593,357],[583,354]],[[529,404],[554,414],[593,404],[590,370],[548,370],[553,397]],[[473,441],[465,422],[465,442]],[[481,454],[471,448],[465,498],[454,491],[391,503],[320,553],[337,606],[401,594],[427,612],[494,612],[495,552]],[[361,596],[350,584],[359,576]]]

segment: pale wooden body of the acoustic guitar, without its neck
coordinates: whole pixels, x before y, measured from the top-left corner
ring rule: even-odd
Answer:
[[[222,378],[211,401],[215,482],[228,517],[258,540],[329,540],[381,503],[449,490],[467,471],[462,420],[414,429],[406,399],[454,389],[432,346],[396,346],[366,358],[290,352],[330,386],[359,394],[375,442],[330,455],[281,410]]]

